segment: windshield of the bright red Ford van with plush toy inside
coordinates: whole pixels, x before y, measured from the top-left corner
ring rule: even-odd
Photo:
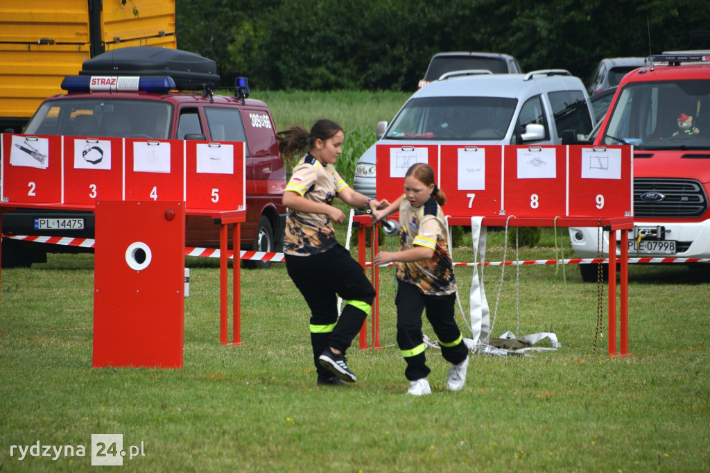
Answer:
[[[710,149],[710,81],[626,85],[601,143],[638,149]]]

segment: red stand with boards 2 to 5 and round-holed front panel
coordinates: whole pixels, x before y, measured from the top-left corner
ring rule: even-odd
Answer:
[[[219,339],[228,344],[227,229],[238,261],[244,143],[3,134],[1,144],[0,206],[95,213],[94,367],[182,366],[186,215],[221,225]]]

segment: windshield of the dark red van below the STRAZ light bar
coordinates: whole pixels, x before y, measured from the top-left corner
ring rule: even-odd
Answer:
[[[43,103],[25,134],[170,138],[173,105],[158,100],[62,99]]]

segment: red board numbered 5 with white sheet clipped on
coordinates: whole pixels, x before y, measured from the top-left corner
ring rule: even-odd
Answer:
[[[244,143],[185,141],[185,146],[190,208],[246,209]]]

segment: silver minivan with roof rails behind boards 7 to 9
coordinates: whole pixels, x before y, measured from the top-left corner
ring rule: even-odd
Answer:
[[[584,139],[596,121],[589,95],[566,70],[497,74],[450,72],[415,92],[378,141],[360,157],[353,188],[375,197],[378,144],[561,144],[574,130]]]

